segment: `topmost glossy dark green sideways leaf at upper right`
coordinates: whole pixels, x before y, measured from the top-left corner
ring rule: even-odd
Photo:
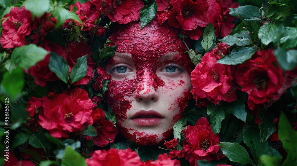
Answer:
[[[262,20],[259,8],[252,5],[230,8],[229,14],[234,17],[239,17],[241,20]]]

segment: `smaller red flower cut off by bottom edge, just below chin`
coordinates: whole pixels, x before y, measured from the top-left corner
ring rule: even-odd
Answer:
[[[155,161],[146,161],[145,166],[180,166],[180,162],[177,159],[172,160],[170,157],[168,157],[168,154],[160,154],[158,156],[158,159]]]

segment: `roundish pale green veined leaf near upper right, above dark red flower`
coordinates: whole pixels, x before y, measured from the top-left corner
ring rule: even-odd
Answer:
[[[279,28],[275,24],[265,23],[258,33],[261,43],[268,45],[269,43],[277,43],[280,38]]]

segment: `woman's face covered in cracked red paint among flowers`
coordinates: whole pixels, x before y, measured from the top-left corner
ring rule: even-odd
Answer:
[[[149,36],[146,44],[138,39],[129,36],[124,44],[119,42],[120,51],[105,67],[111,76],[107,102],[125,138],[139,145],[154,145],[172,134],[191,98],[191,62],[188,55],[171,51],[172,43],[148,48],[147,43],[156,42],[154,38]],[[160,45],[169,49],[160,50]],[[125,49],[129,46],[133,49]]]

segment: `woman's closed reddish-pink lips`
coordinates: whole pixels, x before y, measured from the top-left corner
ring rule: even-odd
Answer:
[[[158,125],[164,117],[156,111],[139,111],[135,113],[131,120],[139,126],[154,126]]]

